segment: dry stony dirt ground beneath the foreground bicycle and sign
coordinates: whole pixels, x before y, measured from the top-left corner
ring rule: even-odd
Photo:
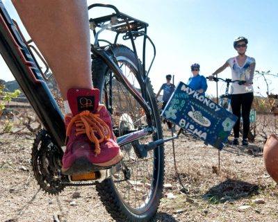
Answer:
[[[93,186],[66,187],[59,196],[40,191],[31,171],[32,143],[26,133],[0,135],[0,221],[54,221],[54,214],[66,221],[113,221]],[[185,135],[174,144],[188,194],[180,191],[168,142],[168,185],[154,221],[278,221],[278,189],[263,165],[263,139],[249,148],[225,147],[220,171],[215,148]]]

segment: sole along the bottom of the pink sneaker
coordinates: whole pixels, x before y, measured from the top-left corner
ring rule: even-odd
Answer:
[[[94,164],[90,162],[87,158],[81,157],[74,161],[71,167],[61,169],[62,173],[65,175],[74,175],[81,173],[89,173],[94,171],[100,171],[103,169],[109,169],[113,167],[115,164],[120,162],[123,158],[122,152],[118,153],[112,160],[107,162],[101,162]]]

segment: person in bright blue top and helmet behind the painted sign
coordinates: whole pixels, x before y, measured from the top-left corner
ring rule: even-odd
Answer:
[[[191,65],[191,71],[193,76],[188,79],[187,85],[192,89],[196,90],[200,94],[205,94],[208,85],[206,84],[206,78],[199,75],[199,64],[195,63]]]

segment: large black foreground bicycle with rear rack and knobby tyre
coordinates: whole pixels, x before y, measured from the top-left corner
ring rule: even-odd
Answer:
[[[147,35],[148,24],[120,12],[90,18],[95,42],[91,44],[93,83],[101,91],[114,121],[113,131],[124,152],[124,160],[110,169],[99,168],[87,179],[65,176],[61,160],[65,148],[63,114],[47,87],[49,76],[42,73],[34,53],[0,0],[0,53],[13,76],[42,122],[43,129],[35,136],[31,162],[38,185],[47,194],[59,194],[67,186],[95,185],[106,210],[116,221],[149,221],[156,214],[163,190],[163,144],[175,137],[163,139],[159,111],[156,105],[149,71],[156,56],[154,43]],[[115,33],[114,42],[99,39],[104,31]],[[130,40],[133,50],[117,44],[118,37]],[[143,37],[142,62],[135,40]],[[146,71],[147,40],[154,57]],[[105,46],[100,46],[104,42]],[[38,55],[40,57],[40,55]]]

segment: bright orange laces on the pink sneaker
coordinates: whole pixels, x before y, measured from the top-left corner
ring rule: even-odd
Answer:
[[[110,139],[111,137],[111,131],[106,122],[99,118],[99,114],[93,114],[88,110],[80,112],[72,118],[67,126],[67,137],[70,136],[71,129],[74,124],[76,126],[75,135],[87,135],[90,142],[95,144],[96,154],[100,153],[99,144],[104,142],[106,139]]]

